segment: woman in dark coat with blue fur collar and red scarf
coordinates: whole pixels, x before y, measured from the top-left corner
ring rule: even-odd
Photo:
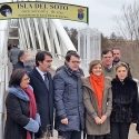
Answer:
[[[39,130],[40,117],[29,82],[24,69],[17,69],[11,75],[6,99],[4,139],[34,139],[33,132]]]

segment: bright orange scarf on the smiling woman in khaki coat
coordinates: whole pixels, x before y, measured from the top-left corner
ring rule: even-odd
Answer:
[[[105,87],[105,79],[103,76],[95,76],[93,73],[89,77],[90,85],[95,91],[97,103],[98,103],[98,111],[100,116],[102,116],[102,96],[103,96],[103,87]]]

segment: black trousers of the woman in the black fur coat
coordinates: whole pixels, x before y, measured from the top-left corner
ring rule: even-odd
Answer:
[[[129,122],[111,122],[111,139],[128,139]]]

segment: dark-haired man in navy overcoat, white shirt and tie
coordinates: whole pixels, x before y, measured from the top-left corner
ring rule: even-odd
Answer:
[[[51,53],[39,51],[36,56],[36,68],[29,72],[30,85],[33,88],[38,110],[41,118],[41,127],[37,138],[42,138],[43,132],[47,135],[53,125],[53,86],[51,73],[49,72],[52,62]],[[46,136],[44,139],[49,139]]]

